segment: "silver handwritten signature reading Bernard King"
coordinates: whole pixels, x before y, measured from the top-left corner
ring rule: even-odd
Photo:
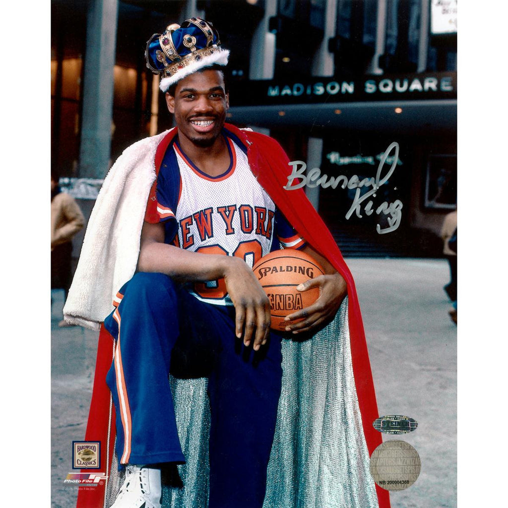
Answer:
[[[387,158],[392,150],[395,150],[395,155],[393,157],[393,162],[386,173],[386,175],[382,176],[383,172],[383,166],[385,165]],[[364,178],[363,180],[360,180],[357,175],[353,175],[350,179],[348,179],[345,175],[339,175],[336,177],[328,177],[327,175],[321,176],[321,170],[319,168],[313,168],[310,171],[307,172],[307,175],[304,174],[307,165],[303,161],[292,161],[288,163],[290,166],[292,166],[292,172],[291,175],[288,176],[288,184],[284,185],[283,188],[286,190],[295,190],[299,189],[305,185],[308,187],[317,187],[318,185],[321,185],[323,188],[332,187],[336,188],[337,185],[345,189],[346,187],[348,189],[356,189],[355,199],[353,200],[353,204],[351,205],[351,208],[346,213],[346,219],[350,218],[351,215],[355,212],[358,217],[362,217],[361,214],[362,206],[363,211],[367,215],[372,215],[374,212],[373,201],[369,200],[367,203],[365,203],[371,196],[373,198],[376,197],[376,190],[379,189],[383,184],[385,184],[392,173],[395,171],[395,168],[397,167],[397,163],[399,160],[399,144],[394,142],[392,143],[385,151],[383,156],[381,157],[381,160],[379,161],[379,166],[377,167],[377,173],[375,178]],[[299,183],[293,184],[293,181],[295,179],[301,179]],[[369,187],[372,188],[368,190],[363,196],[360,196],[361,188],[362,187]],[[384,201],[381,203],[376,209],[375,212],[377,215],[380,213],[384,213],[385,215],[390,215],[387,217],[388,219],[388,228],[381,229],[379,224],[376,224],[376,231],[380,235],[384,233],[390,233],[391,231],[395,231],[399,225],[400,225],[400,219],[401,219],[401,209],[402,209],[402,202],[398,199],[396,199],[393,203],[388,203],[387,201]]]

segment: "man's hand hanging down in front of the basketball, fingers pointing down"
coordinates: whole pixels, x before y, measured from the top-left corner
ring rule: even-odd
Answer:
[[[224,280],[226,289],[235,306],[236,336],[242,337],[248,346],[254,336],[253,349],[266,344],[270,333],[270,301],[256,275],[239,258],[228,257]]]

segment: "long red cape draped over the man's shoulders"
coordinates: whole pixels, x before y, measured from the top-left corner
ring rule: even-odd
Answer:
[[[362,416],[363,432],[369,455],[382,443],[382,435],[374,429],[372,423],[378,418],[374,384],[370,369],[365,331],[356,293],[355,282],[347,268],[335,240],[305,196],[302,188],[285,190],[288,175],[291,173],[289,158],[273,138],[263,134],[242,131],[234,125],[226,124],[226,129],[236,135],[247,147],[247,157],[252,173],[282,211],[289,223],[300,236],[317,251],[322,253],[347,282],[348,321],[351,337],[351,357],[355,376],[358,404]],[[170,131],[157,147],[155,168],[162,164],[166,148],[173,140],[177,130]],[[110,415],[110,392],[106,385],[106,374],[111,367],[112,338],[101,328],[97,352],[96,373],[93,381],[92,399],[85,440],[101,440],[101,470],[110,465],[114,452],[115,415]],[[106,444],[109,443],[109,446]],[[110,467],[107,468],[107,471]],[[90,470],[82,470],[90,472]],[[109,474],[109,472],[108,472]],[[379,508],[390,508],[389,492],[376,485]],[[77,508],[102,508],[105,485],[90,490],[79,489]]]

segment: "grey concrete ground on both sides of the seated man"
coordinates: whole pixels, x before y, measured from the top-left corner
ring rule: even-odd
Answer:
[[[348,259],[364,318],[379,415],[414,418],[403,439],[420,455],[414,485],[392,492],[393,508],[455,508],[457,336],[442,287],[444,260]],[[84,437],[97,333],[58,328],[63,292],[52,291],[51,490],[52,508],[75,506],[77,489],[63,484],[72,472],[72,441]]]

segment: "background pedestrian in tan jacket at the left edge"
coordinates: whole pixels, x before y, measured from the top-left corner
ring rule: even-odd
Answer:
[[[58,178],[51,174],[51,289],[63,289],[65,300],[72,281],[72,239],[84,224],[76,200],[61,192]],[[69,325],[62,320],[58,326]]]

